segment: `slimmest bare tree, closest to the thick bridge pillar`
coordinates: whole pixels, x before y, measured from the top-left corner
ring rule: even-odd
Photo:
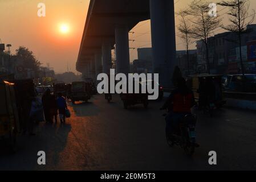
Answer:
[[[190,75],[190,65],[189,65],[189,46],[192,43],[192,39],[189,35],[191,24],[188,20],[188,14],[186,13],[186,10],[180,10],[177,15],[180,17],[180,24],[178,26],[178,31],[180,31],[181,34],[178,36],[181,38],[182,42],[184,43],[184,46],[186,47],[186,61],[188,64],[188,75]]]

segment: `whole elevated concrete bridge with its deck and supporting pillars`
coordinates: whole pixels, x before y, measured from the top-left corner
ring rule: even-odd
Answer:
[[[91,0],[76,69],[86,77],[109,73],[111,49],[116,45],[117,73],[129,73],[128,32],[151,19],[153,70],[160,84],[169,87],[176,42],[173,0]]]

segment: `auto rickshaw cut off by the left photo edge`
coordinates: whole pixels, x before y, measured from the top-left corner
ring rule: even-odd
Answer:
[[[0,82],[0,137],[7,137],[12,151],[16,148],[19,117],[15,100],[14,83]]]

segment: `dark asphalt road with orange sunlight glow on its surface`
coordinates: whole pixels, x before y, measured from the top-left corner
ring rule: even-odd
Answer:
[[[9,154],[0,141],[1,170],[254,170],[256,169],[255,111],[224,108],[210,118],[199,111],[197,141],[192,158],[165,140],[165,121],[159,108],[136,105],[123,109],[119,96],[111,103],[94,96],[89,103],[69,103],[67,125],[40,123],[36,136],[21,135],[18,152]],[[38,151],[46,165],[37,164]],[[217,165],[208,163],[217,152]]]

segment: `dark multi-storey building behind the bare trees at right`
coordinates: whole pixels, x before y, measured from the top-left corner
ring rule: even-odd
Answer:
[[[238,35],[235,32],[224,32],[209,38],[211,73],[241,73],[241,64],[238,63],[240,60],[237,40]],[[242,60],[245,65],[247,64],[247,43],[253,40],[256,40],[256,24],[247,26],[247,31],[242,34]],[[207,71],[206,47],[202,41],[197,42],[197,65],[198,72]]]

